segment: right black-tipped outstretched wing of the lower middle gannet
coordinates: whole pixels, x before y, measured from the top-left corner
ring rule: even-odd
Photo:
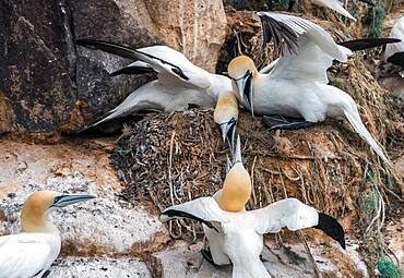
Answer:
[[[324,231],[345,249],[344,229],[338,221],[296,198],[281,200],[246,214],[258,219],[256,230],[261,234],[278,232],[284,227],[292,231],[312,227]]]

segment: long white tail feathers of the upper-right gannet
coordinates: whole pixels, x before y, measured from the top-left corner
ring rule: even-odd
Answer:
[[[376,152],[376,154],[379,155],[379,157],[384,162],[391,166],[390,160],[385,157],[379,144],[376,142],[376,140],[371,136],[369,131],[366,129],[365,124],[361,122],[358,108],[356,107],[355,101],[353,99],[350,99],[350,101],[347,101],[343,110],[344,110],[345,117],[348,119],[349,123],[353,125],[355,131],[359,133],[359,135],[363,136],[368,142],[371,148]]]

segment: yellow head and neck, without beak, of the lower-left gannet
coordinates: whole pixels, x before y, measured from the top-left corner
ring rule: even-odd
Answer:
[[[47,220],[55,192],[33,193],[24,203],[21,211],[21,228],[24,232],[59,233],[55,225]]]

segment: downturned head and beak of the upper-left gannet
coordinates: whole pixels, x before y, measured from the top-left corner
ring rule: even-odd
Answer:
[[[238,102],[233,92],[219,94],[213,119],[221,126],[223,142],[227,138],[227,143],[233,154],[238,120]]]

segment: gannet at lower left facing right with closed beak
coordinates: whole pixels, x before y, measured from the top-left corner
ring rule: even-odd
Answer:
[[[58,207],[94,198],[38,191],[28,196],[21,211],[22,232],[0,237],[0,278],[40,278],[60,252],[58,228],[47,216]]]

